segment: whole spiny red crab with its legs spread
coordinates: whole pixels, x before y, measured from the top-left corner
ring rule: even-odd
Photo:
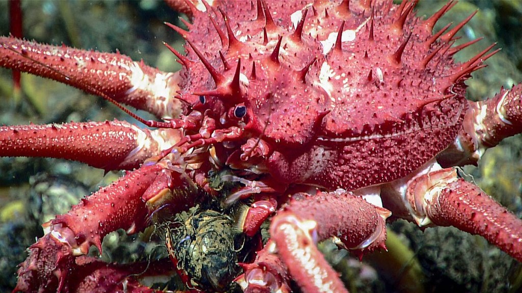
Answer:
[[[222,170],[238,183],[223,204],[254,199],[246,235],[274,214],[270,240],[235,279],[244,291],[290,291],[293,279],[303,292],[346,292],[316,243],[333,238],[359,257],[384,249],[392,214],[481,235],[522,261],[522,221],[454,168],[522,131],[521,84],[465,99],[464,81],[497,52],[453,60],[478,41],[453,46],[473,14],[432,32],[455,2],[427,19],[412,12],[416,1],[169,3],[191,18],[188,31],[167,23],[187,42],[186,55],[167,45],[183,65],[173,74],[119,54],[0,39],[3,67],[161,119],[145,121],[157,130],[122,121],[0,128],[2,156],[136,168],[44,224],[16,290],[145,290],[130,276],[139,268],[79,256],[101,250],[110,231],[145,228],[157,209],[186,210],[200,190],[217,200],[209,172]]]

